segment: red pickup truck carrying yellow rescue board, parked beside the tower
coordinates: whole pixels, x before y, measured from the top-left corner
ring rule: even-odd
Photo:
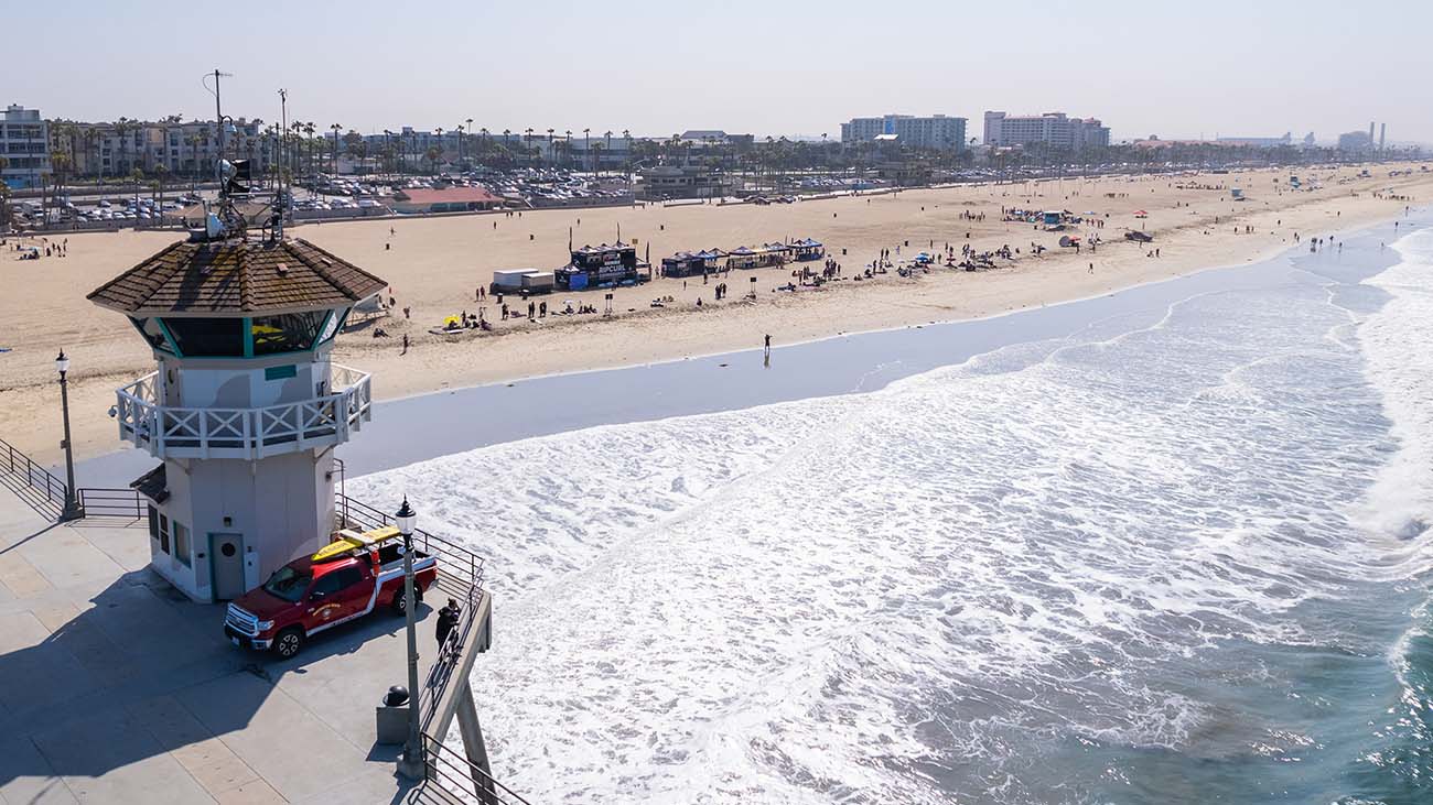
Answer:
[[[312,556],[279,567],[262,586],[229,603],[224,633],[235,646],[269,649],[288,659],[308,637],[387,609],[404,613],[403,543],[393,527],[338,531]],[[414,596],[438,576],[437,560],[414,549]]]

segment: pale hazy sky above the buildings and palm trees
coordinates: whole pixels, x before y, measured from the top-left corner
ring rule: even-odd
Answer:
[[[234,10],[238,9],[238,13]],[[282,9],[267,13],[267,9]],[[1367,13],[1381,9],[1383,13]],[[549,0],[13,3],[0,103],[46,117],[321,130],[827,133],[883,113],[1101,117],[1116,140],[1433,142],[1433,3],[1333,0]],[[19,32],[36,32],[33,36]],[[53,34],[53,36],[52,36]]]

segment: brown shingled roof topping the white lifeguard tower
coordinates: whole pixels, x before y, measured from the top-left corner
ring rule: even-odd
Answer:
[[[136,315],[297,311],[347,305],[387,286],[308,241],[179,242],[89,294]]]

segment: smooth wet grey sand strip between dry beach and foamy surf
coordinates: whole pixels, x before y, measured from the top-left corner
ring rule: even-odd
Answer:
[[[1410,219],[1410,223],[1433,223],[1429,212],[1427,208],[1420,209],[1419,219]],[[1371,238],[1380,226],[1387,223],[1351,228],[1341,232],[1340,239]],[[1010,327],[1012,317],[1002,312],[782,345],[772,350],[770,362],[762,361],[761,350],[742,350],[390,398],[375,405],[373,423],[364,427],[360,438],[341,448],[340,457],[345,461],[347,477],[357,478],[474,448],[575,430],[870,392],[1007,347],[1075,337],[1099,328],[1115,327],[1126,332],[1146,327],[1166,315],[1171,305],[1197,297],[1297,281],[1305,271],[1300,265],[1305,256],[1315,264],[1334,261],[1326,264],[1331,266],[1346,262],[1343,252],[1308,255],[1290,248],[1254,264],[1208,266],[1112,294],[1013,311],[1022,315],[1015,328]],[[1367,246],[1347,252],[1347,261],[1391,265],[1389,261],[1393,259],[1391,251],[1370,252]],[[1379,271],[1383,268],[1386,265]],[[633,400],[629,394],[632,388],[641,388],[645,400]],[[575,395],[583,398],[582,413],[570,411],[565,403]],[[471,417],[471,411],[483,414]],[[523,421],[514,425],[509,417]],[[421,427],[413,423],[421,423]],[[83,461],[77,473],[90,483],[105,480],[112,484],[143,473],[152,463],[146,454],[130,450]]]

